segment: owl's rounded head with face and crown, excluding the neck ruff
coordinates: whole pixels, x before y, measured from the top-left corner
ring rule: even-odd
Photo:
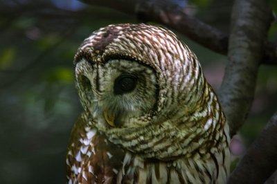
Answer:
[[[165,28],[101,28],[84,40],[74,63],[82,105],[101,129],[175,122],[202,100],[195,55]]]

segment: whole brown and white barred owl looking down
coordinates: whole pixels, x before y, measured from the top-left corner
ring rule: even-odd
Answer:
[[[229,126],[195,54],[166,28],[114,24],[74,59],[84,112],[68,183],[226,183]]]

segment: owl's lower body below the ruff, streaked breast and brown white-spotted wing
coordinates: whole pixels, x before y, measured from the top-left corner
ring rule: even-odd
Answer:
[[[226,182],[225,153],[162,161],[124,150],[90,127],[79,132],[66,159],[69,183]]]

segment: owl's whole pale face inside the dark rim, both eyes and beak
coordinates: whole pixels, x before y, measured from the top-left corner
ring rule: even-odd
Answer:
[[[85,91],[83,105],[102,126],[135,126],[138,118],[157,106],[159,86],[150,66],[126,59],[110,59],[105,64],[82,59],[75,71]]]

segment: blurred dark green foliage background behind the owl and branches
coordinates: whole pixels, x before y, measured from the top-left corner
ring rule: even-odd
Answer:
[[[232,2],[176,0],[192,15],[227,31]],[[276,1],[270,3],[276,10]],[[73,57],[93,30],[125,22],[136,22],[136,17],[75,0],[0,1],[0,183],[65,182],[67,140],[82,111]],[[274,23],[271,41],[276,42],[276,33]],[[179,36],[218,89],[226,57]],[[276,111],[276,81],[276,68],[260,68],[256,100],[241,131],[247,145]]]

